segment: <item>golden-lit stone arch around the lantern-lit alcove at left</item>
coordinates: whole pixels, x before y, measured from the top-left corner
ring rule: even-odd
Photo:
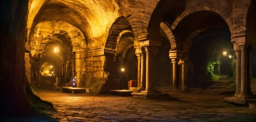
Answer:
[[[34,33],[27,41],[26,45],[30,45],[31,50],[38,51],[32,52],[33,54],[41,53],[47,42],[50,42],[52,37],[58,34],[70,40],[73,51],[87,48],[87,41],[81,30],[63,21],[40,22],[35,26]]]

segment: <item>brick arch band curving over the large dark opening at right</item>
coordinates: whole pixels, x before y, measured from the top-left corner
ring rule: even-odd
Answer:
[[[222,19],[224,19],[224,21],[228,24],[229,30],[232,34],[232,30],[233,30],[232,24],[233,23],[232,23],[232,19],[228,16],[228,14],[226,14],[225,12],[223,12],[220,9],[216,9],[216,8],[209,7],[209,6],[194,7],[194,8],[191,8],[189,10],[184,11],[179,17],[177,17],[175,19],[174,23],[171,26],[171,29],[175,29],[176,26],[179,24],[179,22],[182,19],[184,19],[186,16],[188,16],[189,14],[199,12],[199,11],[212,11],[212,12],[215,12],[215,13],[219,14],[222,17]]]

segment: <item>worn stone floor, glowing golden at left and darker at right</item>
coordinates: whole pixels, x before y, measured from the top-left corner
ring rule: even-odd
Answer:
[[[162,90],[168,100],[132,96],[68,94],[41,90],[36,95],[54,104],[47,111],[58,122],[255,122],[256,111],[223,102],[233,95],[201,95]]]

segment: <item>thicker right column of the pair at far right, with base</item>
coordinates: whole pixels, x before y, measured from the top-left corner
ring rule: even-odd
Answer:
[[[252,99],[254,98],[254,95],[251,94],[248,85],[250,85],[250,82],[248,82],[250,79],[248,75],[249,66],[251,60],[248,60],[248,46],[247,45],[241,45],[241,93],[237,97],[240,99]]]

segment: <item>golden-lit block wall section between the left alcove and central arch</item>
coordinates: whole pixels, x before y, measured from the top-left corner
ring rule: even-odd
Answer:
[[[91,49],[75,53],[75,76],[77,87],[89,88],[96,83],[96,79],[104,78],[104,64],[106,57],[104,50]]]

